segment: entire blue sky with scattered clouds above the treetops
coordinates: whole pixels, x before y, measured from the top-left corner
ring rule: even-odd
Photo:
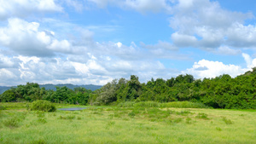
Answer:
[[[0,0],[0,85],[235,78],[256,66],[255,15],[254,0]]]

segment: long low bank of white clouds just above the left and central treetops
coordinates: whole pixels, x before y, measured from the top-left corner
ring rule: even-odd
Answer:
[[[86,62],[74,62],[61,58],[40,58],[37,56],[15,56],[12,59],[18,66],[14,68],[1,68],[2,83],[8,85],[26,84],[36,82],[39,84],[106,84],[113,78],[130,78],[131,74],[146,78],[167,78],[172,75],[170,69],[160,61],[133,61],[133,60],[103,60],[90,54]],[[10,65],[13,65],[12,63]],[[144,72],[148,75],[145,76]],[[169,73],[168,73],[169,72]],[[170,73],[171,72],[171,73]],[[168,73],[168,74],[166,74]],[[173,75],[172,75],[173,76]],[[11,82],[8,80],[13,79]]]

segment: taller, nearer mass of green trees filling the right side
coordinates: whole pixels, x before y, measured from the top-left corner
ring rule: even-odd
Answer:
[[[127,101],[131,102],[126,103]],[[135,104],[140,101],[156,102],[149,102],[150,105],[184,101],[183,106],[186,103],[187,107],[255,109],[256,67],[252,72],[246,72],[236,78],[224,74],[201,80],[186,74],[167,80],[152,78],[147,84],[140,84],[138,78],[132,75],[129,81],[125,78],[120,78],[119,81],[114,79],[90,95],[91,105],[108,105],[116,102],[119,106],[140,105]],[[178,107],[179,104],[171,102],[161,106]]]

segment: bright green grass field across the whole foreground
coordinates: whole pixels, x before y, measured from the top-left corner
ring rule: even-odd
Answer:
[[[35,112],[0,103],[0,143],[256,143],[255,110],[89,107]],[[58,105],[60,107],[76,107]]]

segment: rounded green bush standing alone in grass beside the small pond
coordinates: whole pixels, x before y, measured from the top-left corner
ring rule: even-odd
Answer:
[[[56,107],[49,101],[38,100],[32,102],[32,111],[55,112]]]

